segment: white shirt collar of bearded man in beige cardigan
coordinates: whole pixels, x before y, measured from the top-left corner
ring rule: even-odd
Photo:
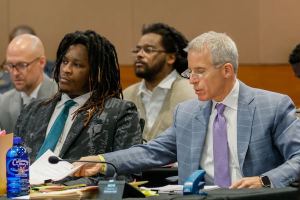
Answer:
[[[170,72],[165,78],[163,78],[158,83],[158,85],[156,85],[154,88],[160,87],[162,89],[170,89],[171,86],[172,86],[172,84],[173,84],[173,82],[176,80],[176,75],[177,75],[177,71],[176,71],[176,69],[173,69],[172,72]],[[139,95],[140,93],[148,93],[148,92],[149,92],[149,90],[146,87],[145,80],[142,79],[141,83],[139,85],[139,88],[138,88],[137,95]]]

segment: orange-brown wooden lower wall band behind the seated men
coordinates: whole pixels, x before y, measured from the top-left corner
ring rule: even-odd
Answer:
[[[133,66],[121,66],[123,89],[140,81]],[[295,77],[290,65],[240,65],[237,78],[245,84],[288,95],[300,107],[300,79]]]

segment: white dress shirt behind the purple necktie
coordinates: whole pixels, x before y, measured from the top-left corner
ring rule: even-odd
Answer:
[[[200,167],[206,171],[204,178],[205,184],[214,184],[214,166],[213,166],[213,146],[212,146],[212,124],[216,116],[215,105],[217,103],[225,104],[224,117],[226,119],[227,142],[228,142],[228,158],[229,170],[231,176],[231,184],[239,180],[241,176],[238,157],[237,157],[237,102],[238,102],[239,82],[236,80],[230,93],[221,101],[212,100],[212,109],[209,117],[205,143],[200,160]]]

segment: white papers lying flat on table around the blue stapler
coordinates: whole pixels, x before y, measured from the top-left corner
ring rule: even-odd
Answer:
[[[168,184],[161,187],[140,187],[140,188],[148,189],[148,190],[157,190],[158,193],[168,193],[168,192],[182,193],[183,185]],[[204,188],[200,189],[199,191],[209,191],[217,188],[219,188],[217,185],[204,185]]]

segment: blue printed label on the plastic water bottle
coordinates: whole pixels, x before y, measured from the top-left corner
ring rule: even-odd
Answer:
[[[8,177],[29,177],[28,158],[6,158],[6,172]]]

